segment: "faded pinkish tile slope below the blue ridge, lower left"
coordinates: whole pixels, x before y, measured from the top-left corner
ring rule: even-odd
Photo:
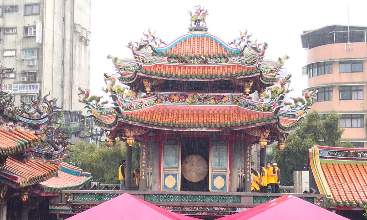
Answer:
[[[74,176],[59,170],[57,177],[52,177],[39,183],[45,192],[59,192],[60,190],[79,189],[79,187],[91,181],[92,177]]]

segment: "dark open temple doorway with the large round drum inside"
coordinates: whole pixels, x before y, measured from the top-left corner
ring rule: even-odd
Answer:
[[[209,138],[184,137],[181,149],[181,191],[208,191]]]

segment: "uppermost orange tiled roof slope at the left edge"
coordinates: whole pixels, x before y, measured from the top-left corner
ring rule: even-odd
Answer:
[[[40,135],[18,128],[11,131],[0,128],[0,155],[22,152],[33,147],[40,138]]]

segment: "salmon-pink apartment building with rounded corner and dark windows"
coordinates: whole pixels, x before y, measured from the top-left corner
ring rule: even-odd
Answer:
[[[317,89],[312,109],[341,114],[342,140],[367,148],[367,26],[330,25],[305,31],[308,89]],[[348,40],[349,39],[349,40]]]

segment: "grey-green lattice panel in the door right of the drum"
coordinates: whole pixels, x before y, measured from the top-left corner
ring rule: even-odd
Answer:
[[[213,141],[211,149],[211,167],[212,168],[227,168],[227,141]]]

